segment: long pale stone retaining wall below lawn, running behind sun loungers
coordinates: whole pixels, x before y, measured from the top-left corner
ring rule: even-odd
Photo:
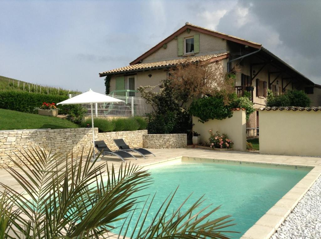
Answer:
[[[120,138],[130,147],[142,147],[143,134],[147,134],[147,130],[98,133],[98,128],[95,128],[96,140],[105,140],[111,150],[118,149],[113,139]],[[12,166],[13,163],[6,154],[18,160],[15,153],[21,156],[19,150],[42,147],[45,150],[51,149],[52,153],[65,153],[71,149],[80,151],[84,147],[87,154],[91,142],[91,128],[0,131],[0,167],[5,166],[4,163]]]

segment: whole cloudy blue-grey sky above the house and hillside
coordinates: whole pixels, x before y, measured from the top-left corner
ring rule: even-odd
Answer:
[[[98,73],[129,65],[185,22],[262,44],[321,84],[321,1],[0,0],[0,75],[105,91]]]

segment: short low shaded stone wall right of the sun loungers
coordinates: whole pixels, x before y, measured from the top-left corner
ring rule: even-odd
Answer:
[[[145,148],[186,148],[187,134],[144,134]]]

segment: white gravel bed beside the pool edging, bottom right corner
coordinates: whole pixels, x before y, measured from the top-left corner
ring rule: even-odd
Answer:
[[[270,239],[321,238],[321,177],[302,197]]]

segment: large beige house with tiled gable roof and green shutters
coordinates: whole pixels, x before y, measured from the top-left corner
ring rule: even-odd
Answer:
[[[223,61],[229,72],[236,64],[235,91],[238,95],[250,93],[256,109],[265,106],[267,89],[274,94],[288,90],[304,90],[321,105],[321,87],[299,73],[286,62],[265,49],[262,44],[186,23],[162,40],[129,66],[99,73],[110,79],[110,91],[117,95],[140,96],[139,86],[157,85],[168,75],[168,69],[185,60],[212,63]],[[253,87],[252,87],[253,86]],[[258,127],[258,111],[253,113],[247,127]]]

